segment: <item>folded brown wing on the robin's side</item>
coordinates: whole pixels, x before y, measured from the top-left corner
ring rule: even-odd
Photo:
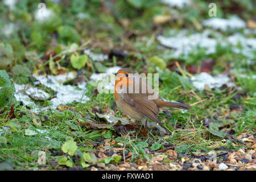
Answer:
[[[158,106],[154,101],[148,100],[147,94],[122,93],[123,101],[136,109],[139,113],[162,125],[156,115],[159,114]]]

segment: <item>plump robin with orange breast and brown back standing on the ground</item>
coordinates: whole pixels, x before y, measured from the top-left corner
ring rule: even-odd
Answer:
[[[143,123],[146,122],[145,128],[147,119],[162,125],[162,122],[157,117],[160,111],[163,111],[168,118],[171,118],[171,114],[168,111],[169,107],[187,110],[191,107],[179,102],[164,101],[162,97],[155,93],[147,81],[133,69],[122,68],[113,74],[116,76],[114,98],[117,106],[131,118]]]

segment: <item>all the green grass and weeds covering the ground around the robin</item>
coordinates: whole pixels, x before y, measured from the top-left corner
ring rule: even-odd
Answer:
[[[168,36],[170,30],[177,30],[177,32],[179,32],[181,28],[187,28],[189,32],[195,32],[195,26],[192,22],[189,22],[188,19],[192,17],[191,14],[195,13],[193,11],[196,10],[178,10],[177,12],[180,11],[179,13],[183,14],[185,18],[158,25],[155,30],[155,28],[153,28],[155,25],[153,26],[152,24],[152,17],[155,16],[154,12],[159,11],[162,15],[170,15],[165,12],[168,10],[166,9],[166,5],[148,5],[148,9],[146,5],[143,5],[143,14],[139,15],[139,11],[131,5],[127,5],[126,1],[118,1],[118,3],[113,4],[111,7],[119,13],[113,15],[111,12],[106,11],[103,13],[100,12],[98,15],[97,10],[100,9],[101,6],[100,3],[95,1],[90,3],[90,6],[85,7],[86,9],[88,8],[88,10],[86,10],[86,12],[88,12],[86,16],[96,18],[89,21],[80,20],[79,22],[79,20],[76,20],[76,14],[73,13],[79,13],[79,10],[76,11],[75,5],[72,5],[72,10],[70,10],[63,5],[51,2],[48,3],[47,8],[59,10],[56,11],[56,13],[59,12],[57,16],[64,19],[61,26],[68,24],[74,27],[81,35],[80,39],[84,44],[78,46],[79,43],[77,43],[77,53],[81,55],[81,50],[84,48],[91,48],[92,51],[98,53],[104,51],[108,52],[114,49],[127,50],[128,53],[125,58],[114,56],[112,60],[102,61],[102,67],[118,65],[133,68],[138,73],[159,72],[160,96],[166,100],[182,101],[185,104],[195,105],[188,111],[170,109],[172,118],[167,118],[163,113],[159,114],[160,121],[164,123],[163,127],[170,133],[168,135],[160,136],[155,130],[148,129],[147,136],[140,135],[139,131],[135,130],[124,134],[121,138],[114,129],[96,129],[81,121],[81,119],[90,118],[97,123],[106,123],[104,119],[97,117],[95,109],[92,108],[95,106],[98,106],[104,114],[112,111],[114,103],[113,94],[93,94],[97,89],[97,84],[95,83],[90,84],[88,82],[88,85],[86,85],[88,92],[86,92],[85,95],[90,97],[90,101],[86,102],[86,104],[73,102],[65,106],[60,106],[59,110],[61,113],[57,113],[55,110],[49,110],[32,114],[30,112],[31,108],[20,104],[18,101],[14,101],[5,106],[3,111],[0,111],[0,163],[7,162],[15,169],[45,168],[52,170],[63,168],[63,166],[58,165],[57,162],[63,156],[68,156],[74,163],[73,167],[81,168],[79,159],[81,158],[81,153],[91,151],[98,152],[100,144],[106,145],[102,143],[101,138],[117,140],[117,144],[113,146],[120,147],[120,144],[122,144],[124,148],[123,153],[125,150],[133,152],[131,159],[133,162],[138,162],[140,159],[150,159],[152,154],[146,154],[143,152],[143,148],[150,148],[154,143],[160,144],[159,149],[163,147],[167,148],[166,146],[176,146],[175,151],[178,154],[186,154],[188,156],[193,153],[199,154],[203,151],[209,152],[220,147],[231,148],[233,150],[247,147],[241,143],[237,143],[234,139],[230,139],[226,134],[226,132],[231,129],[234,130],[234,137],[238,137],[244,133],[254,134],[256,128],[256,79],[252,78],[255,76],[256,66],[255,63],[247,64],[247,57],[242,55],[242,53],[234,52],[234,48],[241,48],[241,45],[236,47],[218,45],[216,52],[211,55],[205,55],[205,49],[196,49],[189,53],[188,58],[184,58],[184,56],[181,55],[174,59],[172,56],[175,50],[160,46],[159,42],[156,40],[157,35]],[[209,18],[208,16],[203,16],[204,14],[208,14],[208,9],[203,8],[208,6],[205,6],[206,4],[206,2],[201,1],[200,6],[197,7],[201,14],[196,13],[193,15],[196,16],[195,19],[198,19],[199,22],[201,17],[204,19]],[[36,7],[37,5],[34,3],[29,7],[31,12],[34,10],[32,6]],[[7,14],[5,6],[0,7],[3,7],[3,12]],[[127,7],[126,11],[123,11],[121,7]],[[26,8],[24,8],[24,10],[25,9]],[[61,9],[63,12],[60,14]],[[77,7],[77,9],[79,8]],[[19,18],[20,14],[30,16],[30,13],[27,11],[23,12],[22,9],[19,11],[20,13],[17,13],[17,16],[18,20],[21,22],[23,20]],[[82,12],[84,12],[84,10],[82,10]],[[243,13],[247,14],[245,16],[247,17],[250,11],[243,11]],[[10,17],[15,19],[15,16],[16,15],[11,12]],[[122,27],[121,24],[126,18],[129,26]],[[9,18],[6,19],[6,21],[9,21]],[[16,64],[22,64],[32,71],[40,70],[49,75],[52,73],[49,62],[62,55],[63,57],[55,62],[54,68],[59,68],[59,65],[61,65],[61,67],[65,67],[68,71],[76,71],[69,61],[70,55],[64,52],[64,49],[66,50],[68,47],[71,47],[71,43],[74,43],[73,40],[65,41],[64,39],[61,40],[58,38],[56,40],[58,42],[57,46],[64,47],[63,50],[61,50],[60,53],[56,53],[52,59],[44,60],[44,53],[52,48],[49,46],[49,41],[55,40],[55,38],[53,38],[52,31],[44,28],[40,28],[40,31],[34,30],[32,27],[34,24],[30,21],[31,20],[27,20],[24,24],[24,26],[28,28],[18,30],[20,34],[23,33],[26,35],[22,40],[17,38],[17,40],[15,39],[15,42],[11,44],[12,41],[6,39],[6,41],[13,46],[14,53],[18,55],[18,57],[15,57]],[[5,24],[5,19],[1,19],[1,24]],[[58,34],[65,33],[57,31],[58,28],[59,27],[55,27],[55,32],[58,32]],[[38,33],[35,38],[31,38],[33,32]],[[127,32],[132,34],[131,37],[123,36]],[[238,30],[237,32],[243,34],[242,30]],[[232,33],[233,32],[227,31],[222,32],[222,35],[226,37],[232,35]],[[43,41],[44,36],[40,35],[45,35],[47,39]],[[17,34],[16,36],[19,37],[20,35]],[[211,36],[214,38],[216,35]],[[254,38],[254,34],[246,36]],[[67,36],[67,39],[68,38]],[[27,45],[23,45],[23,42],[27,42]],[[43,42],[43,46],[38,45],[36,42]],[[14,47],[14,44],[18,46]],[[19,55],[18,50],[24,50],[22,55]],[[71,53],[73,52],[75,51]],[[167,68],[159,70],[156,68],[155,64],[150,63],[149,60],[153,56],[158,56],[166,61]],[[255,51],[253,56],[256,57]],[[222,88],[199,92],[199,90],[192,86],[187,75],[181,76],[181,74],[179,74],[181,69],[183,69],[181,73],[184,75],[187,65],[200,66],[204,59],[213,59],[216,61],[213,70],[210,72],[211,75],[227,73],[232,82],[237,85],[237,88],[232,89],[223,86]],[[37,60],[39,60],[39,62],[37,62]],[[177,71],[177,69],[172,69],[171,71],[168,69],[170,68],[168,64],[172,61],[179,61],[181,67],[179,71]],[[234,72],[230,72],[232,69]],[[10,72],[10,75],[12,74],[9,68],[6,68],[6,70]],[[89,76],[92,73],[99,72],[92,59],[88,60],[83,70],[85,71],[86,81],[89,80]],[[245,78],[242,74],[250,76],[251,78]],[[12,76],[10,80],[13,81]],[[34,80],[30,80],[31,85],[34,85],[33,82]],[[39,84],[37,87],[45,90],[47,93],[51,94],[52,97],[56,94],[53,90],[43,85]],[[11,104],[14,104],[15,119],[7,118],[10,113]],[[48,106],[51,104],[51,101],[36,101],[36,104]],[[240,109],[230,109],[230,106],[234,104],[240,106]],[[63,111],[65,109],[69,111]],[[115,107],[112,113],[114,113],[115,117],[127,117],[123,115],[122,111],[117,107]],[[207,121],[211,122],[207,123]],[[27,129],[35,131],[37,134],[32,136],[26,135]],[[38,129],[47,130],[47,133],[40,133],[37,131]],[[141,127],[140,131],[142,129]],[[213,134],[210,130],[214,130],[216,133]],[[220,134],[222,134],[223,137],[218,137]],[[77,153],[74,156],[65,154],[61,148],[65,141],[71,137],[75,140],[78,147]],[[139,143],[142,141],[146,142],[148,146],[144,147],[143,144]],[[42,167],[38,164],[38,151],[46,152],[46,166]],[[114,161],[116,162],[117,160],[119,159],[115,159]]]

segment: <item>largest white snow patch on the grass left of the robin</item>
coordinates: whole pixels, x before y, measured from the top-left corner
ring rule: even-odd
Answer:
[[[73,85],[63,85],[63,82],[75,78],[76,75],[73,72],[65,73],[63,75],[52,76],[48,75],[47,77],[33,75],[42,85],[47,86],[56,92],[56,96],[50,101],[52,105],[49,106],[52,109],[56,109],[60,104],[68,104],[70,102],[76,101],[81,103],[86,103],[89,100],[89,97],[85,96],[87,91],[86,82],[83,82],[77,86]],[[40,90],[38,88],[28,88],[27,85],[18,85],[15,84],[15,94],[14,97],[18,101],[22,101],[24,105],[30,106],[33,111],[46,110],[47,107],[40,107],[35,104],[35,102],[26,94],[34,94],[34,97],[38,98],[49,98],[49,94]],[[26,94],[24,94],[26,93]]]

